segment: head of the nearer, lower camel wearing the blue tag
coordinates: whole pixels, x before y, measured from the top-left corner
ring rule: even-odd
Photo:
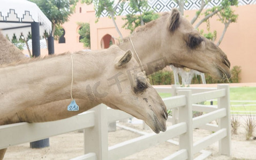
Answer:
[[[123,110],[142,119],[155,133],[166,130],[167,109],[160,95],[149,84],[147,77],[138,67],[130,50],[124,52],[117,46],[110,47],[115,56],[109,59],[106,69],[108,92],[103,103],[113,109]],[[110,56],[109,56],[110,57]]]

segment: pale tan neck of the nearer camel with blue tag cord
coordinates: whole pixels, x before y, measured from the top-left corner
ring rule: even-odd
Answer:
[[[73,54],[72,57],[74,63],[72,95],[73,98],[85,98],[82,97],[85,95],[85,86],[92,83],[92,79],[88,77],[97,78],[95,73],[101,72],[97,67],[93,67],[92,63],[86,63],[93,59],[92,55]],[[70,99],[71,74],[70,54],[1,68],[1,106],[9,106],[10,111]],[[80,82],[83,82],[83,85]],[[0,108],[1,113],[4,113],[2,110],[4,108],[6,107]]]

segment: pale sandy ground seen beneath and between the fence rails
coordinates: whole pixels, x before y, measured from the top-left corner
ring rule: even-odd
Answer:
[[[256,121],[256,117],[254,118]],[[239,116],[238,134],[232,134],[232,155],[231,157],[219,155],[218,143],[207,147],[205,150],[211,151],[212,156],[207,159],[256,159],[256,140],[245,140],[244,129],[244,117]],[[121,123],[118,124],[132,127],[134,129],[152,132],[151,130],[142,130],[142,124]],[[168,123],[168,125],[171,125]],[[197,129],[194,130],[194,142],[200,140],[202,137],[209,135],[211,132],[206,130]],[[256,136],[256,131],[254,131]],[[121,127],[117,127],[117,131],[109,132],[108,143],[109,146],[116,145],[117,143],[139,137],[140,134],[131,131],[124,130]],[[178,140],[174,138],[173,140]],[[50,138],[50,147],[43,149],[31,149],[29,143],[13,146],[7,149],[5,158],[8,159],[70,159],[80,155],[83,155],[83,133],[71,132],[62,135],[58,135]],[[156,146],[142,150],[139,153],[130,155],[123,158],[123,160],[141,159],[141,160],[157,160],[163,159],[178,150],[178,146],[170,143],[163,142]],[[199,155],[199,154],[197,154]]]

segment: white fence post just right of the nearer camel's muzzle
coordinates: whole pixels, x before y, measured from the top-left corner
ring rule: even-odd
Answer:
[[[185,122],[187,124],[187,132],[179,135],[179,149],[187,150],[187,159],[193,159],[193,115],[192,115],[192,91],[180,90],[178,95],[186,96],[186,105],[179,107],[179,123]]]

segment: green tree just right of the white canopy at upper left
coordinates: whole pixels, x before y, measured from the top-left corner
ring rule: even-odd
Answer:
[[[52,36],[58,39],[63,33],[61,25],[69,20],[78,0],[29,0],[34,2],[52,23]],[[46,35],[48,37],[48,35]]]

